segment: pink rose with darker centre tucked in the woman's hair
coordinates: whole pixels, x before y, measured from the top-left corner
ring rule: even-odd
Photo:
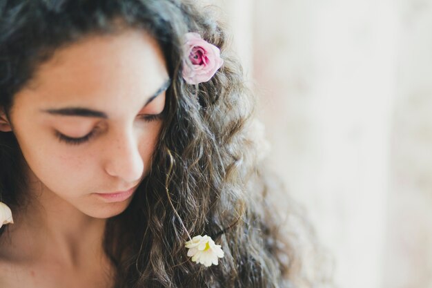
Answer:
[[[188,84],[199,84],[210,80],[224,60],[219,48],[208,43],[198,33],[186,33],[186,59],[182,76]]]

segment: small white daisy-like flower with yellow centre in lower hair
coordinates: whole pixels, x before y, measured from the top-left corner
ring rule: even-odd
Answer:
[[[205,267],[217,265],[218,258],[224,257],[224,251],[221,245],[215,242],[209,236],[195,236],[192,240],[185,243],[188,248],[188,256],[192,257],[193,262],[201,263]]]

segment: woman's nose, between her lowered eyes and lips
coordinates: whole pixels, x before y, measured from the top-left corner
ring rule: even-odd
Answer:
[[[133,131],[116,133],[109,141],[105,151],[106,173],[125,182],[137,182],[144,172],[144,162]]]

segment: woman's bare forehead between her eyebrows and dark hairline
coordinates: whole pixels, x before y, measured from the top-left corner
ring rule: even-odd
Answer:
[[[59,48],[37,68],[14,103],[37,103],[39,108],[86,105],[101,110],[109,110],[112,104],[142,105],[166,79],[164,55],[146,32],[92,35]]]

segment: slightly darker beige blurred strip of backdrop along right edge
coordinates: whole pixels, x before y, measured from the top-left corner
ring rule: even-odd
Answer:
[[[384,287],[432,287],[432,1],[403,0]]]

